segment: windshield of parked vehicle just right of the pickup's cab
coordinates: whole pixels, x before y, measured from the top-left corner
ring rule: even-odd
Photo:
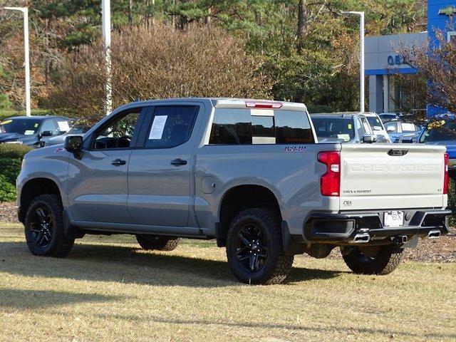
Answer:
[[[336,138],[348,141],[355,137],[351,118],[312,118],[318,138]]]

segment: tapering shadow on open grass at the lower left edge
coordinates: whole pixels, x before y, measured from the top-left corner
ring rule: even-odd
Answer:
[[[123,296],[103,294],[77,294],[74,292],[51,290],[0,289],[0,308],[40,309],[76,303],[119,301]]]

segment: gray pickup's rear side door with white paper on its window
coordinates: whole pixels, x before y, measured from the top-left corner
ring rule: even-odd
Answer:
[[[142,145],[130,156],[128,211],[135,224],[186,227],[198,105],[152,109]]]

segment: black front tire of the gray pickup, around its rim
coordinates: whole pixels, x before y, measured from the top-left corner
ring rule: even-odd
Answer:
[[[40,247],[33,237],[31,224],[35,221],[34,215],[39,208],[46,209],[52,218],[51,242]],[[67,239],[63,230],[63,207],[57,195],[39,195],[35,197],[26,211],[24,231],[28,249],[32,254],[42,257],[63,258],[73,248],[74,239]]]

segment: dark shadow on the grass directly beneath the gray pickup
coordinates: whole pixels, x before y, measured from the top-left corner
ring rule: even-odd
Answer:
[[[21,276],[45,276],[86,281],[158,286],[220,287],[239,284],[227,261],[143,252],[141,249],[78,244],[65,259],[34,257],[24,242],[0,243],[0,271]],[[177,252],[178,249],[177,249]],[[331,279],[343,271],[294,267],[285,284]]]

